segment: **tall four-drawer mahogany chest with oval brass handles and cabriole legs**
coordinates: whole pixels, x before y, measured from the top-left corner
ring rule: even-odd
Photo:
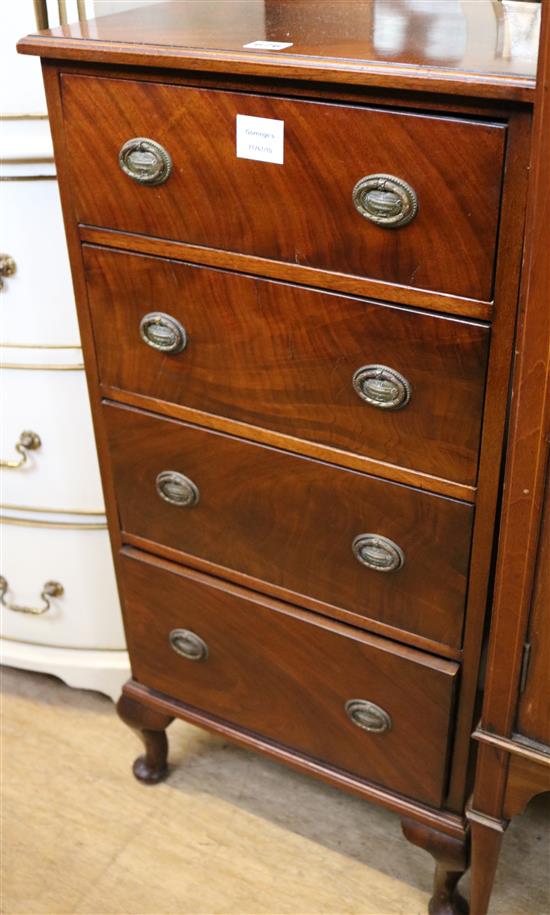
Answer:
[[[134,773],[164,777],[179,717],[384,804],[439,913],[467,866],[535,55],[484,45],[472,75],[433,12],[440,67],[405,9],[387,62],[383,2],[163,4],[20,50],[44,58]]]

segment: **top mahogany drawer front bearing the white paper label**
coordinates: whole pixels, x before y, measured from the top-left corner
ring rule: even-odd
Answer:
[[[76,75],[62,92],[82,223],[491,299],[501,125]],[[237,115],[284,122],[284,164],[237,157]],[[169,153],[165,183],[119,167],[140,137]],[[416,193],[407,225],[356,209],[354,187],[379,174]]]

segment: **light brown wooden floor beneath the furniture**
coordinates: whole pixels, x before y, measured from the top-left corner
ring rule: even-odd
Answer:
[[[431,859],[397,817],[181,722],[144,787],[108,699],[7,668],[3,692],[4,915],[426,912]],[[550,912],[549,809],[506,834],[494,915]]]

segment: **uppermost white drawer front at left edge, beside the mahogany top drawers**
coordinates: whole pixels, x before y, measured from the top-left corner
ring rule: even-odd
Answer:
[[[16,263],[2,289],[3,343],[78,345],[56,180],[0,184],[0,251]]]

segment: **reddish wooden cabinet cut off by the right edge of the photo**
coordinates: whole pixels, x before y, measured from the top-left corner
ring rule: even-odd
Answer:
[[[480,746],[469,814],[477,824],[472,834],[473,915],[487,912],[496,870],[499,842],[487,832],[502,830],[532,796],[550,788],[550,746],[518,733],[523,726],[543,737],[549,718],[544,662],[550,612],[544,508],[550,450],[549,205],[550,8],[545,3],[488,666],[475,733]],[[528,663],[528,639],[533,664]],[[488,845],[493,853],[486,860]]]

